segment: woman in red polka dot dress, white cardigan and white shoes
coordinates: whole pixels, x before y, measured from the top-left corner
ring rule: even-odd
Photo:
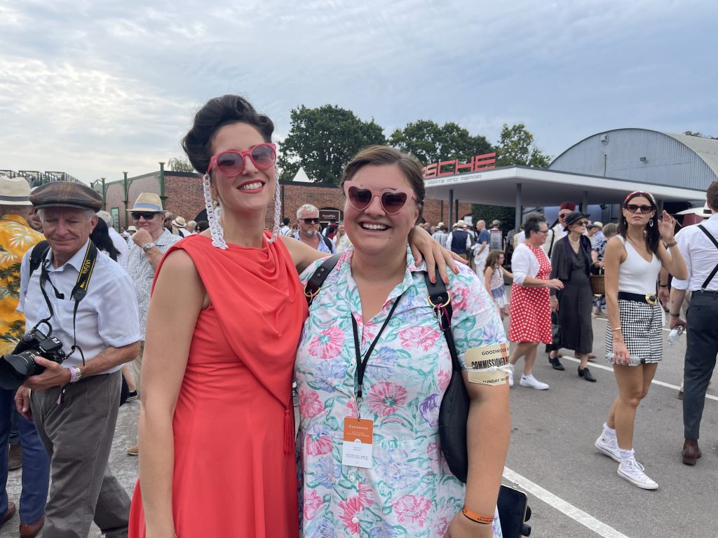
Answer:
[[[546,390],[549,385],[533,377],[538,342],[551,344],[551,302],[549,289],[560,290],[564,284],[558,278],[549,280],[551,262],[541,245],[546,241],[549,225],[541,214],[531,214],[523,225],[526,241],[516,247],[511,258],[513,287],[511,288],[508,339],[518,342],[508,359],[510,366],[523,357],[522,387]],[[513,387],[513,371],[508,374]]]

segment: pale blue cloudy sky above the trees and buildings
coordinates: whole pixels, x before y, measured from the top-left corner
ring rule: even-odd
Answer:
[[[524,123],[554,157],[614,128],[718,136],[717,23],[714,0],[0,0],[0,169],[156,171],[225,93],[280,144],[327,103],[387,136]]]

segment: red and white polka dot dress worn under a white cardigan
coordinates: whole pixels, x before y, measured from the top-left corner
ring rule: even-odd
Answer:
[[[538,260],[535,278],[549,280],[551,262],[541,247],[531,247]],[[512,342],[544,342],[551,344],[551,291],[549,288],[527,288],[514,283],[511,287],[508,339]]]

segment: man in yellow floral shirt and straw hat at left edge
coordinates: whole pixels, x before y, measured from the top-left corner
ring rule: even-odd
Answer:
[[[30,186],[23,177],[0,175],[0,251],[3,253],[0,258],[0,354],[12,353],[25,334],[25,318],[16,311],[20,297],[20,262],[24,253],[45,239],[29,226],[32,209],[29,194]],[[50,459],[32,420],[18,417],[14,396],[14,390],[0,389],[0,450],[6,450],[13,419],[17,417],[20,439],[17,448],[22,449],[20,454],[24,460],[20,535],[32,537],[45,521]],[[7,458],[0,457],[0,525],[9,521],[17,511],[7,496],[8,469]]]

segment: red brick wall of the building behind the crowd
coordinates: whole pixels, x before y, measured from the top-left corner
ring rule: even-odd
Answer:
[[[129,189],[127,199],[129,207],[140,192],[154,192],[159,194],[159,172],[137,176],[128,180]],[[281,217],[289,217],[292,222],[297,220],[297,209],[302,204],[312,204],[319,209],[344,209],[343,194],[339,187],[332,184],[322,183],[294,183],[292,181],[281,181]],[[164,172],[164,208],[171,211],[174,216],[182,215],[186,220],[194,220],[197,214],[205,209],[205,199],[202,196],[202,179],[199,174],[187,172]],[[131,225],[127,217],[126,207],[123,202],[123,182],[113,181],[106,184],[105,209],[111,211],[113,207],[119,208],[120,225],[126,227]],[[471,204],[459,204],[459,215],[464,217],[471,214]],[[267,207],[266,226],[271,227],[274,219],[274,201]],[[432,225],[437,222],[449,220],[449,202],[441,200],[424,200],[424,220]],[[458,220],[454,216],[454,221]]]

